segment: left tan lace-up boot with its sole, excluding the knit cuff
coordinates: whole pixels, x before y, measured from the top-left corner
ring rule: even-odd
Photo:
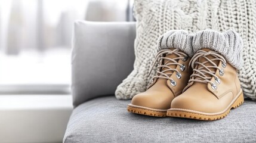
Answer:
[[[192,73],[189,67],[190,57],[187,54],[175,48],[162,49],[156,55],[156,60],[159,62],[156,76],[147,91],[132,98],[127,108],[129,112],[165,117],[171,101],[187,85]]]

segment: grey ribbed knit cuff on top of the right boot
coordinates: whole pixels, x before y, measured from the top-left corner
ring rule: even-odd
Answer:
[[[192,46],[194,52],[202,48],[219,52],[233,67],[242,69],[243,41],[234,30],[228,30],[224,33],[214,30],[202,30],[193,36]]]

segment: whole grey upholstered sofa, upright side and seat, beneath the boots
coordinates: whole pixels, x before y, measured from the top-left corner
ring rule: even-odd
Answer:
[[[116,86],[132,71],[135,23],[75,23],[74,110],[63,142],[256,142],[256,102],[216,121],[128,113]]]

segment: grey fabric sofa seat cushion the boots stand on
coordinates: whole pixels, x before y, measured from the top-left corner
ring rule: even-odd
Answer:
[[[256,142],[256,102],[221,120],[158,118],[129,113],[131,101],[100,97],[73,110],[64,142]]]

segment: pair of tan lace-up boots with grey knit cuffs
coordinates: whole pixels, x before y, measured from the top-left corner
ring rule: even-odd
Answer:
[[[156,75],[127,110],[156,117],[217,120],[243,103],[237,69],[242,66],[238,33],[184,30],[159,38]],[[151,72],[151,71],[150,71]]]

